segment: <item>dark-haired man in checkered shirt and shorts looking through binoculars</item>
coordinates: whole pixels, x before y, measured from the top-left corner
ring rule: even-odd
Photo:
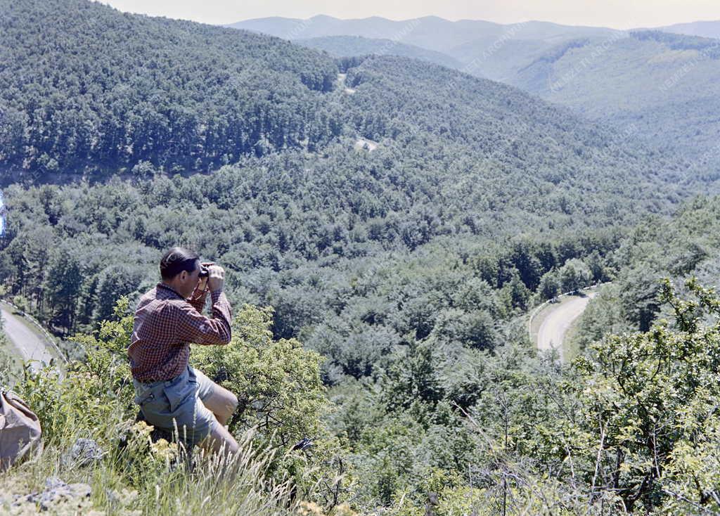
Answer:
[[[207,270],[207,275],[201,271]],[[175,432],[189,449],[202,447],[228,453],[238,443],[225,424],[238,406],[235,395],[188,364],[190,343],[230,343],[232,312],[222,291],[225,271],[200,263],[197,253],[168,250],[160,261],[162,281],[145,293],[135,311],[130,357],[135,402],[145,420]],[[210,289],[212,318],[202,309]]]

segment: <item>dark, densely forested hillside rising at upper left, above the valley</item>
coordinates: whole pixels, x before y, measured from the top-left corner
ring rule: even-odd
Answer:
[[[207,171],[338,135],[324,100],[336,66],[320,53],[84,0],[2,0],[0,13],[5,171]]]

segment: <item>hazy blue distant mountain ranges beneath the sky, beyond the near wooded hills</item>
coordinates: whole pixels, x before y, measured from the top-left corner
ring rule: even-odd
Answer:
[[[714,80],[720,43],[711,23],[661,32],[662,27],[620,31],[433,17],[398,22],[315,17],[248,20],[231,27],[297,40],[338,57],[397,54],[439,63],[508,83],[612,125],[629,139],[670,149],[698,172],[715,176],[720,167]]]

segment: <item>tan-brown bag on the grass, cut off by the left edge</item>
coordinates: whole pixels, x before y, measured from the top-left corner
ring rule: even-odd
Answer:
[[[0,471],[32,451],[42,451],[40,421],[17,394],[0,391]]]

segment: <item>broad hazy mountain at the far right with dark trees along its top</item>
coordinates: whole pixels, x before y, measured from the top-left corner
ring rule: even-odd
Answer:
[[[717,168],[719,78],[714,40],[643,31],[564,42],[505,81]]]

